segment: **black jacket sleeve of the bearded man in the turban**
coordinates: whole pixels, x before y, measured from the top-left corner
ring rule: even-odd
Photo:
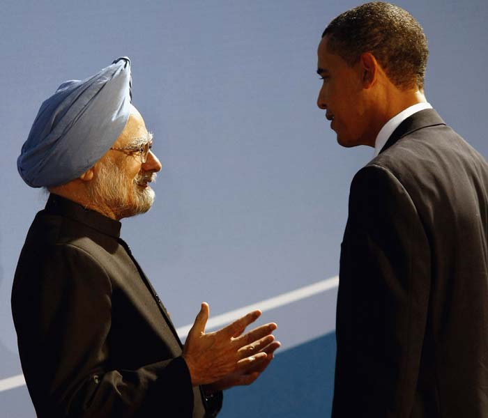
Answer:
[[[112,286],[91,255],[56,245],[43,261],[20,272],[29,272],[20,281],[29,285],[14,288],[13,314],[22,367],[40,417],[145,417],[155,412],[192,417],[193,389],[183,357],[137,370],[112,368],[107,339]]]

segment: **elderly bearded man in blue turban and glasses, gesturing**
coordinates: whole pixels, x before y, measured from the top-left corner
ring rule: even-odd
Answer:
[[[39,417],[214,417],[222,389],[273,358],[259,311],[205,333],[208,305],[181,345],[158,293],[120,238],[120,219],[151,208],[161,164],[131,104],[130,61],[70,81],[40,107],[18,160],[51,192],[15,272],[12,310]]]

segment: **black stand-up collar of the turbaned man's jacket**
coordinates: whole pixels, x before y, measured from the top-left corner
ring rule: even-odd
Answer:
[[[46,212],[66,216],[74,221],[81,222],[105,235],[110,235],[114,238],[120,237],[121,223],[119,221],[106,217],[94,210],[85,209],[82,205],[57,194],[52,193],[49,195],[45,210]]]

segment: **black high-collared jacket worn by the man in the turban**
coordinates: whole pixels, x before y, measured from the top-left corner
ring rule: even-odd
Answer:
[[[160,297],[121,224],[51,195],[15,272],[12,311],[39,417],[204,417]],[[220,398],[220,399],[218,399]]]

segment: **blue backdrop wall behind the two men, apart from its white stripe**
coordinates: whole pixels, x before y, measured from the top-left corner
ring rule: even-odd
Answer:
[[[356,1],[12,1],[0,13],[0,382],[22,373],[10,314],[17,257],[46,195],[15,160],[40,103],[121,55],[163,164],[155,206],[122,236],[178,327],[337,274],[353,174],[372,148],[336,144],[315,101],[317,45]],[[487,157],[488,3],[399,1],[424,26],[427,99]],[[324,417],[333,390],[331,288],[265,312],[283,348],[226,394],[222,417]],[[24,386],[0,417],[33,417]]]

